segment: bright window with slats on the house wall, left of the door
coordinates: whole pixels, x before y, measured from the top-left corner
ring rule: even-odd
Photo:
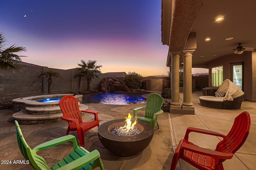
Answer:
[[[223,66],[212,68],[212,86],[218,87],[223,82]]]

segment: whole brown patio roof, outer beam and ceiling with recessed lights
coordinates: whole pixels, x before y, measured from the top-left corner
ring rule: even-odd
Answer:
[[[256,49],[255,6],[256,1],[162,0],[162,43],[169,46],[166,65],[171,66],[170,54],[184,50],[191,32],[196,32],[197,40],[192,67],[208,68],[219,57],[235,55],[232,49],[238,43]],[[216,22],[220,15],[224,20]],[[206,37],[211,37],[211,41],[206,42]],[[228,37],[234,39],[226,41]],[[182,62],[180,57],[181,67]]]

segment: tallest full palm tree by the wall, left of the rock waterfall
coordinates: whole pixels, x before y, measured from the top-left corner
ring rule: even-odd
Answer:
[[[81,64],[78,64],[80,66],[79,68],[76,68],[77,70],[81,70],[82,74],[85,74],[87,77],[87,88],[88,91],[92,91],[92,78],[100,78],[100,67],[102,65],[97,65],[96,60],[88,60],[85,62],[84,60],[81,60]]]

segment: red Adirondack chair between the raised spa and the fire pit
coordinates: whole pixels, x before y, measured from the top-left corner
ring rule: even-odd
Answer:
[[[84,147],[84,133],[96,126],[100,126],[98,119],[97,111],[89,111],[89,110],[79,110],[78,100],[74,96],[64,96],[60,102],[60,109],[63,113],[61,117],[63,120],[68,121],[68,130],[66,135],[70,131],[77,131],[80,145]],[[83,122],[81,117],[81,112],[92,113],[94,114],[93,121]]]

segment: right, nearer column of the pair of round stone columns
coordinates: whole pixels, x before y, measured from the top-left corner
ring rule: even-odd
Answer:
[[[182,110],[189,110],[194,112],[194,106],[192,104],[192,53],[195,50],[184,50],[183,53],[183,63],[184,63],[184,73],[183,73],[183,103]],[[192,113],[194,114],[194,113]]]

